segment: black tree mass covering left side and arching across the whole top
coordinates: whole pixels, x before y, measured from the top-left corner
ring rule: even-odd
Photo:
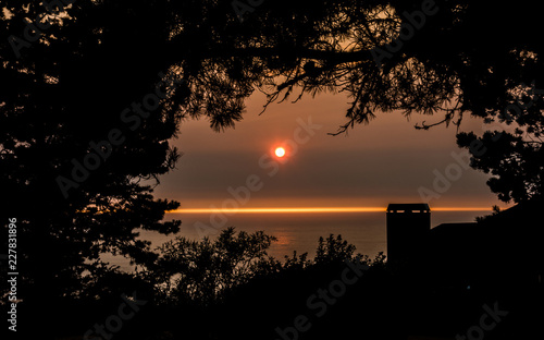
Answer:
[[[178,204],[152,196],[180,157],[168,141],[185,118],[233,126],[255,89],[269,102],[347,93],[342,133],[379,110],[491,122],[523,84],[542,88],[530,1],[279,0],[238,14],[215,0],[2,1],[2,208],[21,217],[22,278],[40,288],[23,291],[77,294],[102,253],[152,262],[137,230],[180,227],[162,221]],[[539,138],[542,100],[532,104],[515,120]],[[500,141],[475,163],[498,177],[493,190],[518,201],[541,192],[540,139]]]

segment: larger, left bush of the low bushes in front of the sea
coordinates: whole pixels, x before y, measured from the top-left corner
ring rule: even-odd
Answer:
[[[236,234],[233,227],[213,241],[177,236],[159,247],[151,275],[165,301],[209,304],[258,275],[262,263],[268,262],[267,250],[275,240],[262,231]]]

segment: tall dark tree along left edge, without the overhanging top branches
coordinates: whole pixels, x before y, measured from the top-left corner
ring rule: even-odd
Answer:
[[[168,143],[178,118],[165,100],[146,99],[161,81],[161,93],[178,95],[180,78],[168,68],[158,75],[152,49],[128,50],[137,40],[132,28],[146,21],[120,22],[118,5],[113,16],[99,9],[91,1],[0,4],[2,218],[17,218],[21,313],[39,316],[21,319],[42,320],[48,329],[54,312],[44,308],[86,295],[89,282],[107,276],[102,254],[152,260],[138,230],[180,228],[180,221],[162,221],[178,204],[152,195],[154,180],[180,157]],[[160,36],[150,26],[140,33],[146,29],[152,39]],[[146,59],[152,70],[140,68]],[[101,292],[109,289],[119,287]]]

